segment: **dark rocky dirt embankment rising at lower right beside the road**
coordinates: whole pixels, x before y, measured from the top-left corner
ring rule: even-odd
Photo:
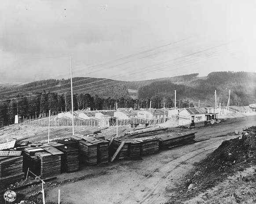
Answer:
[[[166,204],[256,203],[256,126],[223,141],[185,179]]]

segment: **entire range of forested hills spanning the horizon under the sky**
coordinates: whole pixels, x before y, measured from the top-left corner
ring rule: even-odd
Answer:
[[[89,93],[101,98],[138,98],[154,96],[190,100],[201,104],[212,104],[214,91],[219,103],[227,103],[228,90],[231,89],[231,102],[234,105],[248,105],[256,101],[256,73],[253,72],[211,72],[207,77],[198,77],[198,73],[170,78],[150,79],[144,81],[118,81],[104,78],[73,78],[73,93]],[[130,92],[128,91],[130,90]],[[137,90],[137,91],[136,91]],[[0,85],[0,96],[11,98],[26,93],[66,93],[70,91],[70,79],[48,79],[27,84]],[[137,95],[136,95],[137,94]],[[214,104],[214,102],[213,102]]]

